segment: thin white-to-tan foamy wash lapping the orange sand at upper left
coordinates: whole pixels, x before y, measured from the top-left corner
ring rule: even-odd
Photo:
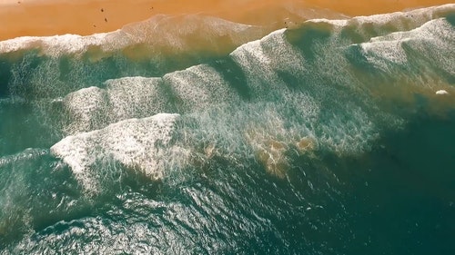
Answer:
[[[204,33],[201,33],[202,30]],[[58,57],[62,54],[83,54],[90,46],[109,52],[134,44],[147,44],[155,49],[163,47],[168,49],[171,46],[174,50],[182,50],[188,46],[187,36],[195,34],[201,34],[201,38],[207,42],[223,36],[228,37],[233,44],[243,44],[262,36],[264,29],[203,15],[184,15],[184,18],[155,15],[146,21],[126,25],[122,29],[109,33],[86,36],[77,34],[23,36],[9,39],[0,42],[0,53],[39,49],[42,54]]]

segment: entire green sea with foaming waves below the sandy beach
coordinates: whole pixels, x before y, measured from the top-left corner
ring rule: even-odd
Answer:
[[[452,254],[454,15],[1,42],[2,254]]]

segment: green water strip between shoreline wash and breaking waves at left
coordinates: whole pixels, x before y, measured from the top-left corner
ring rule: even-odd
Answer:
[[[153,53],[136,60],[124,54],[124,50],[105,53],[90,48],[82,55],[59,56],[45,55],[38,50],[2,54],[0,95],[19,96],[28,101],[62,97],[89,86],[103,87],[108,79],[159,77],[216,58],[213,54],[200,52]]]

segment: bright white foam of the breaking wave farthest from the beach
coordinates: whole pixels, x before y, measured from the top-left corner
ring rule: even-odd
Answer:
[[[163,177],[169,142],[178,114],[159,113],[144,119],[129,119],[101,130],[67,136],[51,147],[51,153],[71,167],[76,178],[89,191],[96,191],[102,168],[113,160],[140,171],[151,179]],[[108,169],[106,171],[109,171]],[[113,170],[112,170],[113,171]]]

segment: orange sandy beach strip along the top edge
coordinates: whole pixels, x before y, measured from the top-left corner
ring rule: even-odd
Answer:
[[[24,35],[95,34],[153,15],[203,14],[251,25],[286,26],[298,17],[372,15],[450,0],[0,0],[0,40]]]

